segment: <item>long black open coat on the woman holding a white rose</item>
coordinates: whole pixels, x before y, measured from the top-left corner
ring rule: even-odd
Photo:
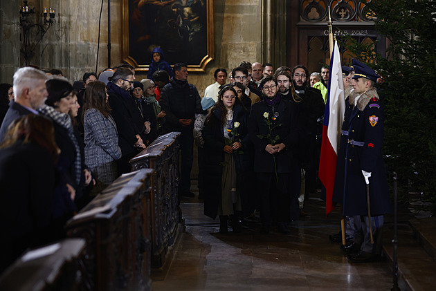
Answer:
[[[204,150],[206,153],[205,173],[204,173],[204,214],[215,218],[217,216],[218,205],[221,202],[221,177],[223,172],[222,162],[224,162],[224,129],[220,120],[221,109],[216,108],[210,113],[203,129]],[[242,144],[243,153],[233,153],[235,167],[237,171],[238,191],[244,187],[241,185],[240,175],[249,171],[251,167],[251,144],[248,139],[247,129],[248,116],[242,104],[235,104],[233,109],[233,124],[239,122],[237,127],[237,141]],[[235,140],[236,141],[236,140]],[[242,205],[244,205],[244,197]]]

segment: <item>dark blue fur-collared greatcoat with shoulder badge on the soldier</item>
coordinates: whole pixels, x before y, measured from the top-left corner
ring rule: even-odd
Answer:
[[[350,96],[340,138],[333,201],[343,205],[346,216],[367,215],[366,185],[362,170],[371,172],[371,215],[391,211],[388,181],[381,153],[383,106],[376,89],[364,93],[354,105]],[[349,142],[352,140],[352,142]],[[362,142],[363,144],[356,144]]]

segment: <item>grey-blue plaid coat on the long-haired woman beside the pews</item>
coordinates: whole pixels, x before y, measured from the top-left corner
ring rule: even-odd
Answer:
[[[121,158],[118,132],[111,115],[105,118],[97,109],[84,113],[85,162],[102,186],[117,178],[116,162]]]

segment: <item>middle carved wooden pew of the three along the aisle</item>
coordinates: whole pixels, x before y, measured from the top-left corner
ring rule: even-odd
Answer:
[[[85,238],[88,290],[151,290],[149,195],[153,169],[120,176],[66,224]]]

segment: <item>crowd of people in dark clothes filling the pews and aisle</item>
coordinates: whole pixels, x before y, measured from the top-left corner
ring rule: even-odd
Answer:
[[[256,210],[262,234],[273,227],[288,234],[291,221],[307,216],[302,207],[317,189],[328,68],[309,75],[302,65],[273,71],[271,64],[242,62],[229,75],[218,68],[200,97],[186,64],[171,70],[159,57],[156,50],[140,82],[134,67],[122,64],[84,73],[74,84],[58,70],[24,67],[13,85],[0,85],[0,221],[8,234],[1,270],[26,247],[64,236],[66,220],[170,131],[181,132],[179,192],[194,196],[195,141],[199,198],[206,216],[219,216],[219,232],[228,232],[229,220],[241,232]],[[351,84],[349,75],[344,84]]]

